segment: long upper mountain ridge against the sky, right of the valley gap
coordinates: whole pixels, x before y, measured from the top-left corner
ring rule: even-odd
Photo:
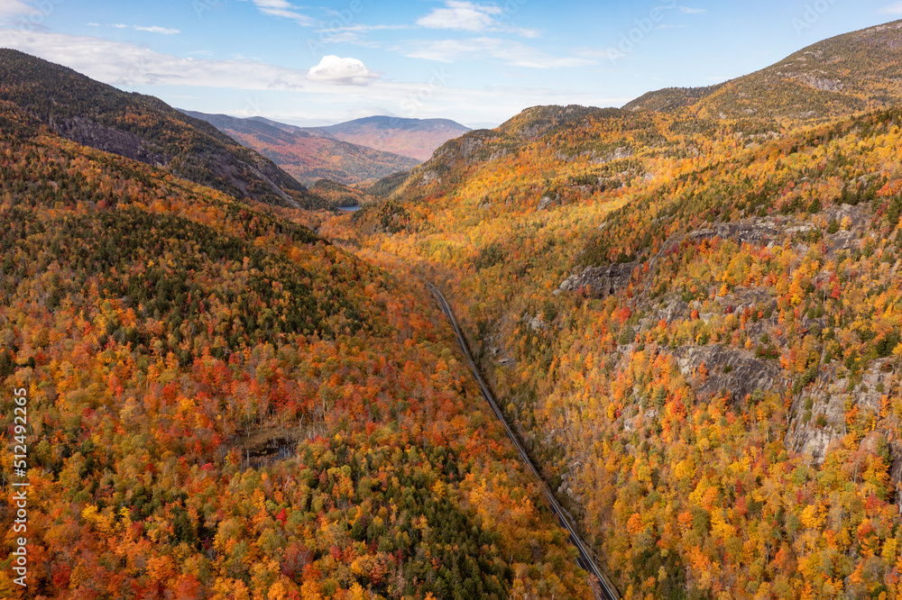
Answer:
[[[704,146],[711,146],[713,136],[726,138],[730,132],[747,144],[759,143],[778,134],[783,126],[815,126],[880,110],[902,98],[902,60],[895,52],[900,47],[902,20],[817,42],[748,76],[707,87],[671,87],[649,92],[619,109],[533,106],[494,130],[467,132],[446,142],[431,159],[413,168],[407,181],[387,187],[398,197],[436,195],[447,189],[449,177],[459,180],[467,168],[474,168],[485,159],[502,159],[542,138],[559,144],[557,151],[561,156],[581,162],[590,170],[592,165],[612,161],[620,164],[626,159],[630,159],[630,168],[636,168],[638,153],[650,158],[682,151],[676,150],[675,144],[684,141],[701,151]],[[883,54],[875,52],[875,48],[883,49]],[[837,53],[844,58],[833,60],[840,56]],[[892,59],[880,59],[884,54]],[[812,69],[821,78],[804,69],[789,73],[793,77],[787,75],[790,67],[809,62],[816,63]],[[822,67],[829,66],[827,63],[833,65],[833,71],[820,73]],[[841,69],[836,64],[848,68]],[[866,83],[843,84],[842,77],[851,77],[851,73]],[[653,115],[660,120],[655,122]],[[574,138],[568,128],[584,134],[576,136],[576,143],[564,141]],[[629,131],[636,141],[624,143],[621,129]],[[603,178],[607,180],[605,186],[614,185],[614,178]],[[620,177],[617,185],[623,183],[625,178]]]

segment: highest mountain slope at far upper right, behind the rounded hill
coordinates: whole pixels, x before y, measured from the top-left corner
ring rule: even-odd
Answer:
[[[896,105],[902,93],[902,21],[818,42],[725,84],[652,92],[625,110],[713,118],[823,120]]]

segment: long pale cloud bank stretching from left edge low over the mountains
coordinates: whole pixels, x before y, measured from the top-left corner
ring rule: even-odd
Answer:
[[[207,113],[242,114],[249,105],[248,97],[261,95],[265,105],[253,114],[276,120],[337,123],[347,120],[347,115],[361,106],[382,106],[383,114],[403,117],[501,123],[527,106],[609,106],[630,99],[544,87],[458,87],[453,74],[444,72],[434,82],[373,78],[368,86],[336,86],[331,81],[309,79],[305,69],[282,68],[259,60],[189,59],[125,41],[52,32],[0,29],[0,47],[22,50],[87,77],[126,89],[137,88],[145,94],[160,95],[170,104],[190,104],[184,108]],[[186,95],[189,86],[196,91]],[[189,103],[182,102],[189,97]]]

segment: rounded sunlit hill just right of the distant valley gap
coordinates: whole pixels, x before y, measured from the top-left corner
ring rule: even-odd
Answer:
[[[721,126],[720,134],[732,135],[735,128]],[[385,185],[405,200],[434,198],[455,190],[467,177],[492,165],[495,169],[516,168],[518,175],[529,177],[541,173],[537,182],[517,187],[528,187],[534,193],[520,196],[520,201],[544,207],[559,204],[561,189],[614,189],[629,185],[637,177],[649,177],[653,161],[713,151],[714,142],[708,134],[715,131],[711,123],[687,124],[670,115],[661,117],[650,112],[534,106],[496,130],[468,132],[448,141],[432,159],[411,169],[400,185],[385,181],[374,187]],[[756,139],[751,137],[754,133],[741,135],[750,136],[750,141]],[[522,159],[521,153],[527,150],[530,159]],[[562,164],[566,168],[560,168]],[[510,204],[513,195],[519,193],[511,192],[504,203]],[[484,202],[492,200],[485,197]]]

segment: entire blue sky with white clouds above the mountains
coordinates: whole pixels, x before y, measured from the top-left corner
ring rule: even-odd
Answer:
[[[494,126],[711,85],[897,19],[895,0],[0,0],[0,47],[207,113]]]

